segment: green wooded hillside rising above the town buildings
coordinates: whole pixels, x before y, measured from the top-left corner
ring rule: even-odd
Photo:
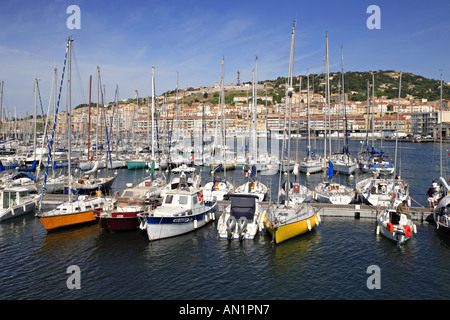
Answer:
[[[399,72],[393,70],[374,71],[375,79],[375,96],[386,97],[388,99],[398,98]],[[306,76],[302,75],[302,89],[306,89]],[[325,74],[310,74],[310,88],[314,93],[325,95]],[[338,93],[342,74],[340,72],[330,73],[331,93]],[[372,95],[372,72],[345,72],[345,92],[348,99],[353,101],[364,101],[367,99],[367,81],[370,84],[370,95]],[[285,95],[286,77],[278,77],[275,80],[259,81],[259,88],[263,88],[267,84],[268,96],[273,96],[273,102],[279,103]],[[294,78],[294,87],[298,91],[300,77]],[[412,73],[403,73],[402,75],[402,98],[407,96],[417,99],[427,99],[428,101],[439,100],[439,80],[428,79]],[[171,102],[175,99],[175,91],[167,91],[158,98],[158,104],[162,103],[162,96],[167,96],[167,101]],[[228,85],[225,89],[225,103],[232,104],[233,97],[251,95],[251,87],[238,87]],[[265,91],[258,89],[258,96],[265,95]],[[147,103],[149,97],[140,101],[140,104]],[[192,105],[196,102],[218,104],[220,99],[220,88],[201,87],[179,89],[178,103]],[[450,86],[444,83],[443,99],[450,99]],[[133,98],[122,100],[120,104],[134,103]],[[263,103],[262,101],[260,101]],[[112,105],[112,102],[109,103]],[[81,107],[82,105],[78,106]],[[77,108],[78,108],[77,107]]]

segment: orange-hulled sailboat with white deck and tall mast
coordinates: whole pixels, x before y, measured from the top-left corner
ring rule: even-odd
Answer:
[[[73,38],[68,38],[67,40],[67,47],[66,47],[66,59],[64,60],[64,67],[66,65],[67,61],[67,109],[68,109],[68,137],[69,137],[69,143],[68,143],[68,154],[69,159],[71,159],[71,46],[72,46]],[[57,115],[58,115],[58,107],[59,102],[61,98],[61,90],[62,90],[62,84],[64,80],[64,71],[62,73],[62,79],[61,79],[61,86],[59,89],[59,96],[58,96],[58,102],[57,107],[55,111],[55,124],[57,121]],[[53,145],[53,138],[55,133],[55,125],[53,127],[52,132],[52,138],[49,142],[49,150],[51,150]],[[50,155],[50,151],[49,151]],[[63,204],[57,206],[55,209],[42,212],[41,211],[41,204],[42,199],[44,197],[45,193],[45,184],[47,182],[47,174],[48,174],[48,167],[49,167],[50,159],[47,158],[47,167],[45,171],[44,176],[44,185],[41,192],[41,198],[40,198],[40,205],[39,205],[39,211],[37,212],[36,216],[39,218],[39,221],[44,226],[44,228],[47,231],[52,231],[56,229],[60,229],[63,227],[68,226],[74,226],[74,225],[80,225],[84,223],[89,222],[95,222],[95,216],[94,216],[94,210],[98,209],[100,207],[107,208],[108,206],[112,205],[113,199],[112,198],[106,198],[102,196],[96,196],[96,197],[88,197],[87,195],[79,196],[78,199],[72,200],[72,179],[71,179],[71,161],[68,162],[68,173],[69,173],[69,192],[68,197],[69,200],[67,202],[64,202]]]

